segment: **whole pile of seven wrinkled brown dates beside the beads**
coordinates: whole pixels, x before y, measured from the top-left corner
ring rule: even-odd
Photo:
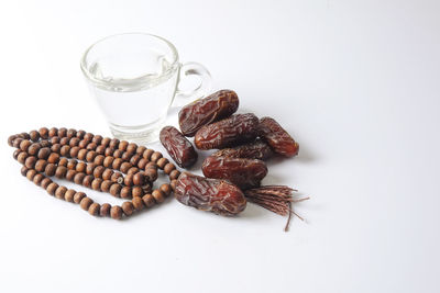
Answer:
[[[194,137],[199,150],[219,149],[205,159],[205,177],[183,172],[178,178],[175,196],[183,204],[235,215],[246,206],[246,191],[258,188],[267,174],[265,160],[275,154],[298,154],[299,145],[274,119],[234,114],[238,109],[237,93],[220,90],[180,110],[180,131],[173,126],[161,131],[162,145],[182,168],[198,159],[187,137]]]

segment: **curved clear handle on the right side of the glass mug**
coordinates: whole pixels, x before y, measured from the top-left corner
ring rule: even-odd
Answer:
[[[180,82],[190,76],[198,76],[200,81],[194,89],[182,90]],[[208,69],[198,63],[186,63],[180,66],[179,81],[173,101],[173,106],[186,105],[197,99],[204,98],[212,88],[212,78]]]

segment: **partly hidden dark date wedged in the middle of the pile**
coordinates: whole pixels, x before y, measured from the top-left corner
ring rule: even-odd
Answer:
[[[267,160],[273,155],[274,151],[272,148],[264,140],[257,138],[255,142],[237,146],[234,148],[220,149],[211,156]]]

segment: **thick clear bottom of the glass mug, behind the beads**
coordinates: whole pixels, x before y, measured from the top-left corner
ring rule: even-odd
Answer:
[[[151,144],[158,140],[161,128],[164,126],[165,117],[153,123],[140,126],[120,126],[109,124],[111,134],[122,140],[134,142],[140,145]]]

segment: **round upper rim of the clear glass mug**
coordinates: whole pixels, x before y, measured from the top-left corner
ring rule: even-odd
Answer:
[[[148,36],[148,37],[153,37],[153,38],[156,38],[156,40],[158,40],[158,41],[165,43],[165,45],[166,45],[167,47],[170,48],[172,54],[173,54],[173,63],[172,63],[172,66],[170,66],[167,70],[165,70],[165,71],[164,71],[160,77],[157,77],[156,79],[161,79],[163,76],[167,76],[170,71],[175,70],[176,64],[178,64],[178,61],[179,61],[179,56],[178,56],[177,49],[176,49],[176,47],[173,45],[173,43],[170,43],[168,40],[166,40],[166,38],[164,38],[164,37],[162,37],[162,36],[158,36],[158,35],[154,35],[154,34],[150,34],[150,33],[143,33],[143,32],[129,32],[129,33],[112,34],[112,35],[102,37],[102,38],[96,41],[94,44],[91,44],[91,45],[85,50],[85,53],[82,54],[81,59],[80,59],[80,67],[81,67],[82,74],[85,75],[85,77],[86,77],[88,80],[90,80],[90,81],[94,82],[94,83],[101,84],[101,86],[107,86],[107,84],[110,83],[108,80],[94,77],[94,76],[90,74],[89,69],[87,68],[87,61],[86,61],[86,59],[87,59],[87,56],[88,56],[89,52],[90,52],[96,45],[98,45],[98,44],[100,44],[100,43],[102,43],[102,42],[105,42],[105,41],[107,41],[107,40],[109,40],[109,38],[113,38],[113,37],[117,37],[117,36],[124,36],[124,35],[138,35],[138,36]],[[145,76],[146,76],[146,74],[145,74]],[[143,76],[138,77],[136,79],[140,79],[140,78],[142,79],[142,77],[143,77]],[[151,80],[151,79],[150,79],[150,80]]]

